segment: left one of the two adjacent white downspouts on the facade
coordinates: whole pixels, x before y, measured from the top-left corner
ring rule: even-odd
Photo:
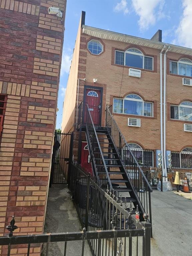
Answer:
[[[162,52],[165,49],[165,45],[160,52],[160,123],[161,123],[161,159],[162,159],[162,172],[163,177],[165,176],[164,162],[163,162],[163,95],[162,95]]]

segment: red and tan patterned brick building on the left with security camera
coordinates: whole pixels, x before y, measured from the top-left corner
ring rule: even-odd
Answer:
[[[16,234],[43,231],[65,11],[66,0],[0,0],[1,236],[13,215]],[[39,251],[31,248],[31,255]],[[7,255],[1,246],[0,255]]]

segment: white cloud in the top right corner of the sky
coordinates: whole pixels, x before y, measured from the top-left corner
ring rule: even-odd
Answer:
[[[192,1],[183,0],[183,8],[173,43],[192,48]]]

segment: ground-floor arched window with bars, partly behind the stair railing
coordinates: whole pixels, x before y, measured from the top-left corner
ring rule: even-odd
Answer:
[[[143,150],[141,146],[136,143],[128,144],[138,164],[148,167],[153,167],[153,151]],[[122,149],[123,159],[126,165],[132,163],[132,156],[127,147]],[[130,159],[130,161],[129,161]]]

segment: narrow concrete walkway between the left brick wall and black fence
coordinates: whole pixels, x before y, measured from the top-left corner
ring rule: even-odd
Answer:
[[[68,193],[67,185],[52,185],[49,189],[44,233],[61,233],[82,231],[76,208]],[[50,243],[48,256],[63,256],[64,242]],[[67,242],[67,256],[79,256],[82,241]],[[45,247],[41,256],[45,254]],[[85,241],[85,256],[91,256],[88,242]]]

